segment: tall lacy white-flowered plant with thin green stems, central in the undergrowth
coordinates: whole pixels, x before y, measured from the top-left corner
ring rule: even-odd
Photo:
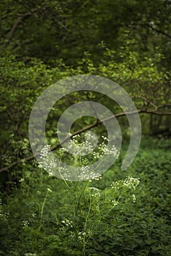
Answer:
[[[89,139],[93,140],[91,136]],[[69,241],[77,244],[82,255],[86,255],[86,247],[91,242],[94,231],[99,230],[99,227],[113,216],[121,198],[125,197],[126,200],[135,202],[136,197],[133,192],[140,182],[137,178],[128,176],[123,180],[112,182],[109,188],[99,189],[98,181],[102,179],[102,175],[101,173],[94,175],[94,172],[89,170],[89,165],[104,154],[113,155],[115,158],[118,158],[119,154],[115,146],[107,148],[109,141],[105,137],[101,138],[101,143],[96,146],[94,151],[92,143],[89,141],[81,141],[80,135],[76,135],[72,138],[68,148],[61,148],[59,151],[61,161],[65,159],[67,163],[71,164],[72,162],[72,165],[80,167],[80,176],[86,179],[82,182],[68,181],[67,170],[60,170],[61,178],[66,185],[61,203],[70,206],[70,209],[68,212],[63,212],[64,217],[58,219],[58,225],[60,225],[63,236],[67,236]],[[67,158],[69,149],[72,150],[72,157]],[[49,151],[50,146],[43,148],[40,167],[53,176],[54,169],[60,168],[60,166],[56,165],[54,159],[50,159]],[[47,197],[42,205],[41,224],[46,199]]]

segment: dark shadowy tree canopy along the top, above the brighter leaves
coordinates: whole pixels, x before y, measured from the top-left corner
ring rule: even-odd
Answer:
[[[31,57],[50,62],[64,59],[77,64],[83,53],[101,60],[98,44],[106,42],[118,50],[129,30],[132,50],[151,56],[156,46],[170,62],[170,0],[3,0],[1,42],[20,59]],[[19,19],[19,20],[18,20]],[[12,37],[9,31],[18,24]]]

